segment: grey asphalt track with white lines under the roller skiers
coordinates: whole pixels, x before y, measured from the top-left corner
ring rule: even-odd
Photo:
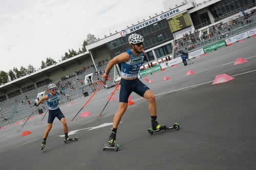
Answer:
[[[241,57],[248,62],[233,65]],[[70,137],[78,141],[65,144],[55,119],[41,151],[48,115],[42,123],[42,115],[33,117],[22,129],[23,124],[1,129],[1,169],[256,169],[256,37],[191,61],[148,76],[153,83],[141,79],[156,95],[158,122],[179,123],[180,130],[148,134],[147,101],[132,93],[135,104],[127,108],[117,131],[119,151],[102,151],[118,108],[119,91],[99,116],[111,88],[96,93],[73,122],[89,97],[60,106],[69,132],[76,133]],[[195,74],[186,76],[188,70]],[[234,80],[212,85],[221,74]],[[165,76],[169,80],[163,81]],[[92,114],[79,118],[85,111]],[[22,137],[24,131],[32,133]]]

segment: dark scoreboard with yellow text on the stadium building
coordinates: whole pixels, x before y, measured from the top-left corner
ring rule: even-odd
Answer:
[[[177,16],[174,16],[170,19],[167,19],[167,22],[169,24],[170,31],[172,31],[172,33],[191,26],[191,21],[186,12],[179,14]]]

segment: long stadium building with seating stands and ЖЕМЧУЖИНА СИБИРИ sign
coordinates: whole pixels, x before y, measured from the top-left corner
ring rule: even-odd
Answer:
[[[27,108],[32,106],[25,103],[29,100],[33,104],[37,98],[40,99],[49,83],[56,83],[59,90],[71,94],[72,100],[92,94],[100,84],[99,78],[108,61],[130,50],[127,39],[131,34],[144,37],[146,56],[141,66],[141,70],[144,70],[176,59],[181,51],[191,53],[225,36],[256,28],[256,18],[251,15],[255,4],[255,0],[209,0],[199,4],[193,0],[166,0],[163,11],[99,37],[96,42],[86,46],[86,53],[65,61],[59,60],[52,66],[1,85],[1,116],[8,117],[11,122],[26,117],[30,114],[26,112]],[[251,15],[250,20],[247,17],[244,20],[248,23],[246,26],[238,20],[244,11]],[[238,21],[236,26],[231,27],[230,20]],[[218,31],[215,33],[215,27],[220,27],[219,35]],[[105,88],[115,85],[114,80],[120,76],[120,65],[116,65],[110,75],[112,81]],[[65,96],[62,98],[60,104],[69,102]],[[17,109],[19,115],[16,114]],[[2,122],[1,127],[3,125]]]

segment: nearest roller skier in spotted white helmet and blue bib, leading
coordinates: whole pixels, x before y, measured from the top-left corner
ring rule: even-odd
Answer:
[[[146,54],[143,51],[144,39],[141,35],[132,34],[129,36],[128,41],[132,50],[113,58],[106,67],[105,74],[102,75],[103,79],[108,80],[112,67],[115,64],[121,63],[122,77],[120,83],[119,108],[114,116],[113,127],[111,128],[112,132],[109,136],[109,144],[111,147],[114,147],[115,145],[117,127],[121,121],[122,115],[127,109],[128,98],[133,91],[148,100],[153,130],[166,128],[166,126],[157,123],[155,95],[150,88],[138,79],[139,70]]]

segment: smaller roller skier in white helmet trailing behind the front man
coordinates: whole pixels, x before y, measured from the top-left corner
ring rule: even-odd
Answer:
[[[38,101],[37,104],[36,103],[34,104],[35,106],[39,106],[39,104],[42,103],[43,101],[47,101],[47,105],[49,108],[48,125],[46,128],[45,134],[44,134],[44,138],[42,138],[41,150],[45,148],[46,139],[47,139],[47,136],[48,136],[50,130],[52,129],[52,123],[53,123],[53,120],[55,119],[55,117],[57,117],[60,120],[60,122],[63,124],[65,139],[67,141],[72,140],[72,138],[69,138],[69,136],[68,136],[68,125],[66,122],[66,118],[63,115],[63,113],[61,112],[61,110],[59,109],[60,91],[57,91],[56,84],[50,84],[48,86],[48,89],[49,90],[47,91],[47,94],[45,96],[43,96]]]

